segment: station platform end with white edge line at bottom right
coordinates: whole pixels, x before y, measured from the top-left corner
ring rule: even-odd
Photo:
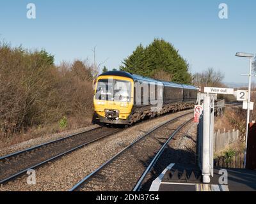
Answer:
[[[152,182],[149,191],[256,191],[256,171],[233,168],[224,170],[228,175],[225,184],[223,168],[214,168],[211,183],[203,184],[202,172],[198,166],[170,164]]]

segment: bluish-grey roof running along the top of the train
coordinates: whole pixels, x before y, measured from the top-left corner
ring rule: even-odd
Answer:
[[[162,83],[164,86],[168,87],[177,87],[177,88],[184,88],[184,89],[193,89],[193,90],[198,90],[198,88],[192,86],[192,85],[185,85],[185,84],[176,84],[173,82],[163,82],[161,80],[155,80],[154,78],[149,78],[149,77],[143,77],[141,75],[135,75],[132,73],[128,73],[126,71],[107,71],[105,73],[102,73],[100,76],[118,76],[118,77],[127,77],[127,78],[132,78],[132,80],[143,80],[146,82],[154,82],[154,83]]]

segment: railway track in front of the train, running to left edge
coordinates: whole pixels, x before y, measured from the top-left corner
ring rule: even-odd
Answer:
[[[60,138],[26,150],[0,157],[0,184],[38,168],[49,161],[73,152],[89,143],[122,131],[120,128],[100,126],[89,131]]]

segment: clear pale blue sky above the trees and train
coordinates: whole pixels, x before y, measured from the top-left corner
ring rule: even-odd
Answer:
[[[28,3],[36,19],[28,19]],[[220,19],[219,4],[228,6]],[[154,38],[170,41],[188,60],[191,71],[209,67],[225,73],[226,82],[247,82],[248,59],[256,53],[255,0],[1,0],[0,38],[13,46],[45,48],[55,62],[86,59],[118,68],[137,45]]]

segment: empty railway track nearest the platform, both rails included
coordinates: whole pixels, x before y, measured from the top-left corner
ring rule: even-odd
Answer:
[[[152,168],[152,164],[156,163],[166,144],[191,121],[189,114],[191,112],[168,120],[145,133],[84,177],[70,191],[132,191],[136,186],[136,189],[140,189],[143,177]]]

